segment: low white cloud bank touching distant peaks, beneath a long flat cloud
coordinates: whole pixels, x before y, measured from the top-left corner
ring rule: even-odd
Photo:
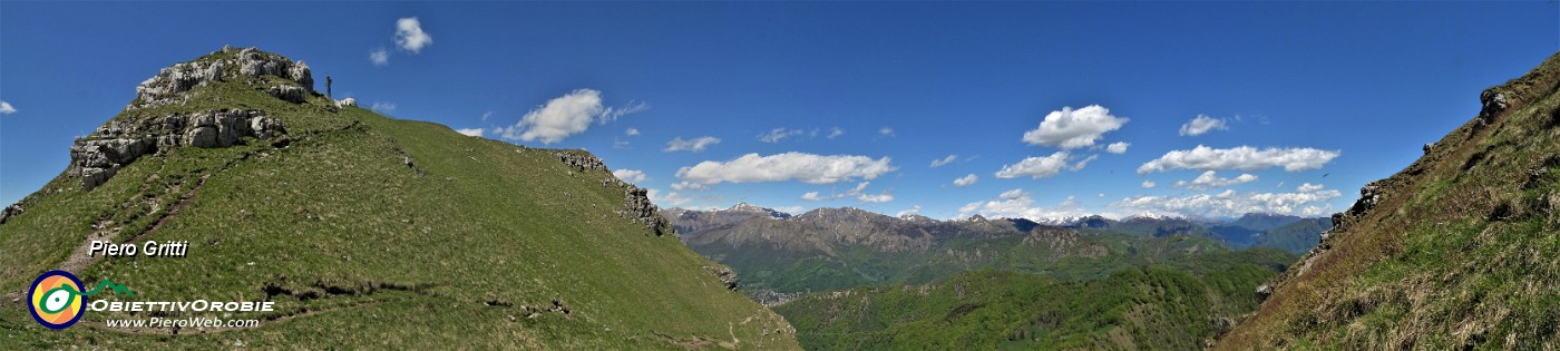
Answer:
[[[1236,192],[1197,193],[1190,197],[1131,197],[1112,203],[1114,207],[1190,217],[1239,217],[1243,214],[1323,215],[1332,211],[1328,201],[1342,197],[1338,190],[1314,192]]]

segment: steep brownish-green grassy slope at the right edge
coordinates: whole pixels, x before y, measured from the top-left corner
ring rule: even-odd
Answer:
[[[1360,189],[1217,349],[1548,349],[1560,343],[1560,55]]]

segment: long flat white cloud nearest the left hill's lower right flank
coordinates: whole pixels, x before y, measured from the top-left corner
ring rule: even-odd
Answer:
[[[872,159],[867,156],[821,156],[791,151],[771,156],[749,153],[727,162],[704,161],[693,167],[682,167],[677,170],[677,178],[707,186],[766,181],[831,184],[849,179],[874,179],[894,170],[899,168],[891,165],[886,156]]]

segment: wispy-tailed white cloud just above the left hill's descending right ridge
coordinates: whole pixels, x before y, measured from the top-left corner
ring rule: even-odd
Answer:
[[[599,90],[576,89],[526,112],[526,117],[521,117],[518,123],[495,131],[510,140],[541,139],[543,144],[554,144],[585,133],[591,122],[607,123],[626,114],[647,109],[644,103],[629,105],[629,108],[607,108],[601,101]]]

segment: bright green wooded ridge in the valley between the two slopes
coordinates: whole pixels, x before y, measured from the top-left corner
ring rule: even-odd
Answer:
[[[1087,281],[970,271],[939,285],[813,293],[775,312],[808,349],[1193,349],[1256,307],[1253,287],[1290,257],[1221,251]]]

